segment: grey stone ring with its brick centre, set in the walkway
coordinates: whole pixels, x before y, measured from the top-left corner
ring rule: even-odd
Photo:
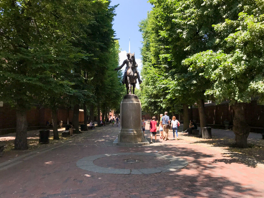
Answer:
[[[116,153],[84,157],[76,162],[80,169],[108,174],[151,174],[176,171],[188,165],[179,157],[158,153]]]

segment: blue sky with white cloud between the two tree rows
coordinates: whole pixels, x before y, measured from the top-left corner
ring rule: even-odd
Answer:
[[[116,16],[113,29],[116,31],[116,38],[119,38],[121,53],[119,54],[120,63],[126,59],[126,53],[129,48],[129,37],[131,53],[135,52],[138,70],[142,68],[140,47],[142,35],[139,32],[139,21],[147,17],[147,12],[151,10],[151,4],[147,0],[112,0],[111,6],[117,5]],[[125,66],[122,68],[125,70]],[[139,84],[137,83],[137,88]]]

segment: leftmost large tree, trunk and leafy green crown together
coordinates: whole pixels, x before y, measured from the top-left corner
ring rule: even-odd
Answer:
[[[57,94],[69,84],[58,74],[70,70],[78,49],[67,41],[69,19],[61,1],[1,1],[1,98],[16,108],[15,149],[27,149],[26,110],[41,96]],[[50,13],[54,13],[51,15]],[[57,13],[62,13],[57,16]],[[65,54],[66,53],[66,54]],[[67,85],[68,84],[68,85]]]

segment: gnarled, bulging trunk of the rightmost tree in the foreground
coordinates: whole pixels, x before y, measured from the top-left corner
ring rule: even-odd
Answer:
[[[234,110],[233,132],[235,134],[236,146],[239,148],[248,148],[247,139],[250,127],[247,124],[244,108],[244,103],[236,102],[232,105],[232,109]]]

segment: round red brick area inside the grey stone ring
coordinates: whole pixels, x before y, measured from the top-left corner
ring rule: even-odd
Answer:
[[[134,159],[139,160],[133,163],[125,160]],[[113,169],[145,169],[156,168],[170,164],[168,160],[158,159],[147,155],[118,155],[103,157],[93,161],[93,164]]]

